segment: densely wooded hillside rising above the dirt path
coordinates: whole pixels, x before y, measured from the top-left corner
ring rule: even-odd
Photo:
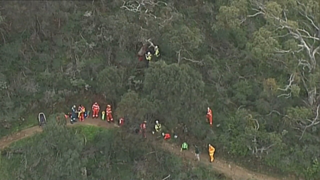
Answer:
[[[97,101],[129,127],[159,119],[167,132],[213,143],[218,158],[254,171],[320,175],[318,1],[0,6],[2,136],[34,125],[38,111]],[[137,54],[148,40],[160,57],[146,68]]]

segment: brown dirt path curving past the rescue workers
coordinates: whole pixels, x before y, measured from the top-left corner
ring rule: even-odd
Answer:
[[[104,127],[104,128],[113,128],[114,124],[108,124],[106,121],[101,121],[99,119],[85,119],[84,122],[77,122],[76,124],[72,126],[77,126],[77,125],[93,125],[93,126],[98,126],[98,127]],[[71,124],[68,122],[67,126],[71,126]],[[0,149],[3,149],[5,147],[8,147],[11,143],[18,141],[20,139],[23,139],[25,137],[31,136],[35,134],[36,132],[42,132],[42,128],[39,127],[31,127],[25,130],[22,130],[18,133],[3,137],[0,139]],[[151,134],[150,134],[151,135]],[[188,159],[194,159],[195,156],[193,152],[191,151],[183,151],[180,152],[180,147],[174,144],[166,143],[164,142],[162,147],[166,150],[170,150],[172,153],[175,153],[179,156],[183,156]],[[283,179],[278,179],[266,175],[262,175],[259,173],[254,173],[252,171],[249,171],[247,169],[238,167],[234,165],[233,163],[225,162],[223,160],[219,160],[219,158],[215,159],[213,163],[209,163],[209,155],[206,155],[205,153],[200,155],[200,161],[202,163],[211,165],[212,168],[224,174],[225,176],[230,177],[232,180],[249,180],[249,179],[255,179],[255,180],[292,180],[289,178],[283,178]]]

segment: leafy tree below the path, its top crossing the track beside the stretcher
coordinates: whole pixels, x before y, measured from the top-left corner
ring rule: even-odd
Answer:
[[[37,145],[25,147],[17,178],[83,179],[80,169],[86,163],[81,159],[84,138],[75,136],[66,126],[58,126],[55,115],[47,122],[44,133],[35,139]]]

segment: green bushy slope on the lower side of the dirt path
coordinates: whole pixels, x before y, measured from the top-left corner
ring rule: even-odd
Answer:
[[[54,117],[49,120],[43,133],[4,150],[0,180],[161,180],[165,177],[228,180],[201,164],[183,160],[155,146],[152,141],[139,141],[132,134],[119,135],[121,131],[117,129],[94,126],[70,129],[57,125]]]

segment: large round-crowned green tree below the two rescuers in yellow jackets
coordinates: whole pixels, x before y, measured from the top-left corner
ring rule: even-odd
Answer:
[[[199,112],[206,108],[201,75],[185,64],[154,63],[146,70],[143,92],[170,128],[199,123]]]

